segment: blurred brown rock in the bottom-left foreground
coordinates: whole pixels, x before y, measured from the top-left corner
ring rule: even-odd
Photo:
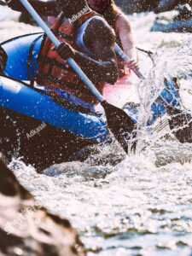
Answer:
[[[85,255],[69,221],[35,201],[2,160],[0,175],[1,255]]]

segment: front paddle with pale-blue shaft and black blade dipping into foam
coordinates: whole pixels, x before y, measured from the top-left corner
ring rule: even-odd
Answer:
[[[49,39],[57,47],[60,44],[59,40],[55,38],[55,35],[49,30],[49,27],[45,25],[38,13],[32,8],[32,5],[28,3],[27,0],[20,0],[20,3],[24,5],[30,15],[32,15],[32,18],[37,21],[38,25],[44,30]],[[96,96],[99,102],[101,102],[102,107],[105,110],[109,130],[112,131],[114,137],[118,140],[121,147],[126,153],[128,153],[128,140],[131,138],[132,131],[135,128],[134,121],[128,116],[127,113],[125,113],[124,110],[117,108],[104,100],[100,92],[91,83],[90,79],[87,78],[73,59],[69,58],[67,61],[70,66],[73,67],[73,70],[79,75],[80,79],[84,81],[84,84],[87,85],[93,95]]]

